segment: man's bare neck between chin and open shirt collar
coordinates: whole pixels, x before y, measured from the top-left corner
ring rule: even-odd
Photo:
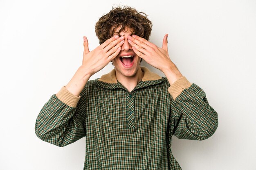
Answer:
[[[144,72],[142,72],[141,68],[135,73],[134,76],[121,76],[116,72],[117,80],[128,89],[129,92],[132,91],[136,87],[136,85],[141,81],[144,76]]]

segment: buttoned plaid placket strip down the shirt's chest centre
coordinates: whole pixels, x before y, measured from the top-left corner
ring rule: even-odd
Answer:
[[[126,94],[126,121],[129,129],[135,128],[135,101],[132,94]]]

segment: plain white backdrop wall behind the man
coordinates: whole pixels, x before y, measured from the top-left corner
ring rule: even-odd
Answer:
[[[97,47],[95,22],[119,4],[148,15],[157,46],[169,34],[171,60],[218,112],[209,139],[173,136],[182,169],[256,170],[255,0],[0,0],[0,169],[83,169],[85,138],[59,148],[36,137],[34,124],[81,65],[83,36]]]

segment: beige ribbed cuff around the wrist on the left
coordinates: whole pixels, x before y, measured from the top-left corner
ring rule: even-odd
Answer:
[[[80,99],[80,95],[77,97],[74,94],[70,93],[65,86],[63,86],[61,88],[61,90],[56,94],[56,97],[58,99],[60,99],[63,103],[65,103],[66,105],[70,106],[70,107],[76,107],[79,99]]]

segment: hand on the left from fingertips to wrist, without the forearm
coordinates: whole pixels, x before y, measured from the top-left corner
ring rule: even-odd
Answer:
[[[112,59],[117,57],[123,43],[124,36],[119,37],[115,35],[90,52],[88,40],[86,37],[83,37],[84,51],[81,67],[86,68],[90,76],[92,76],[104,68]]]

